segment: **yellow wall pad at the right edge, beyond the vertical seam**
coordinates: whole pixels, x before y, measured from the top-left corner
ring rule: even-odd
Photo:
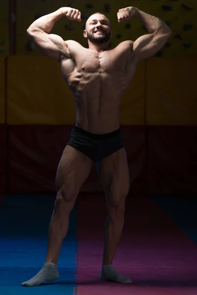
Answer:
[[[197,125],[197,58],[147,60],[146,123]]]

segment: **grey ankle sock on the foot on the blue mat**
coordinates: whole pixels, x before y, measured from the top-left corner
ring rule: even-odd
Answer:
[[[39,286],[44,282],[55,281],[59,278],[58,266],[54,263],[45,262],[40,271],[29,281],[21,284],[24,287]]]

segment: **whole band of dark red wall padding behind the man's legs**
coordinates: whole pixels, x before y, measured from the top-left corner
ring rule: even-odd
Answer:
[[[55,193],[58,163],[72,126],[9,128],[9,192]],[[122,126],[121,129],[128,155],[131,193],[197,192],[197,127],[149,126],[145,131],[141,126]],[[6,180],[5,142],[4,129],[1,191]],[[96,164],[81,191],[102,191]]]

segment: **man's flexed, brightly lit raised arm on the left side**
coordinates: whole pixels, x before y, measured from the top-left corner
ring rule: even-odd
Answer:
[[[48,15],[42,16],[27,29],[27,33],[41,53],[47,57],[59,60],[61,55],[69,59],[69,50],[62,37],[50,34],[57,20],[66,16],[77,20],[79,11],[70,7],[63,7]],[[77,14],[78,13],[78,14]],[[76,16],[77,15],[77,16]]]

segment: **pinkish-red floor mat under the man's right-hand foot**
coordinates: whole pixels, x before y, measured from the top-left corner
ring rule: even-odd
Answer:
[[[114,267],[132,284],[99,281],[104,195],[78,197],[78,295],[196,295],[197,245],[149,197],[127,199]]]

